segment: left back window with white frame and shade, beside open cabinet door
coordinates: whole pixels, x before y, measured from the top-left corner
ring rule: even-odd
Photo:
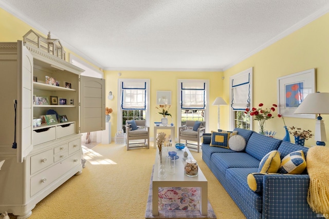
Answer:
[[[119,100],[118,129],[125,131],[127,120],[147,120],[149,125],[149,88],[148,79],[121,79],[119,80]]]

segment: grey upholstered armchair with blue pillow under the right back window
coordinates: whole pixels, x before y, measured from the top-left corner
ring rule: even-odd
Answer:
[[[178,142],[185,140],[185,144],[189,148],[196,148],[200,151],[200,137],[206,130],[206,122],[186,121],[186,125],[178,128]],[[188,143],[188,141],[196,142],[197,144]],[[196,146],[196,147],[195,147]]]

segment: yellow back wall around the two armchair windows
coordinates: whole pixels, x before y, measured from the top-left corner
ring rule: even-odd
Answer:
[[[121,72],[121,76],[118,73]],[[223,95],[223,72],[181,72],[181,71],[104,71],[104,77],[106,82],[106,93],[112,91],[115,96],[112,101],[106,99],[106,106],[111,107],[113,112],[111,114],[112,122],[112,136],[117,132],[117,112],[118,112],[118,79],[119,78],[143,78],[150,79],[150,126],[153,127],[154,122],[158,122],[161,119],[161,115],[157,113],[156,106],[156,91],[167,90],[172,91],[171,98],[172,104],[170,113],[173,117],[173,122],[176,126],[177,132],[177,82],[178,79],[209,79],[209,108],[210,108],[210,120],[209,129],[217,129],[217,106],[212,106],[217,96]],[[150,129],[151,136],[153,136],[153,129]],[[207,130],[210,131],[210,130]]]

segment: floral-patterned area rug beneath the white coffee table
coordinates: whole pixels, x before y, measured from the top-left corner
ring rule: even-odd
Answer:
[[[200,189],[167,187],[159,188],[159,215],[152,215],[152,170],[149,198],[145,218],[217,218],[210,202],[208,201],[208,216],[200,214]],[[168,195],[168,193],[170,193]],[[166,196],[169,196],[167,199]],[[169,202],[167,202],[169,200]]]

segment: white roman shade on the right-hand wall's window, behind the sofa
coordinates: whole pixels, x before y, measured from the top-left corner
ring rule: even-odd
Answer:
[[[250,72],[241,74],[232,79],[232,103],[233,110],[245,110],[250,107]]]

